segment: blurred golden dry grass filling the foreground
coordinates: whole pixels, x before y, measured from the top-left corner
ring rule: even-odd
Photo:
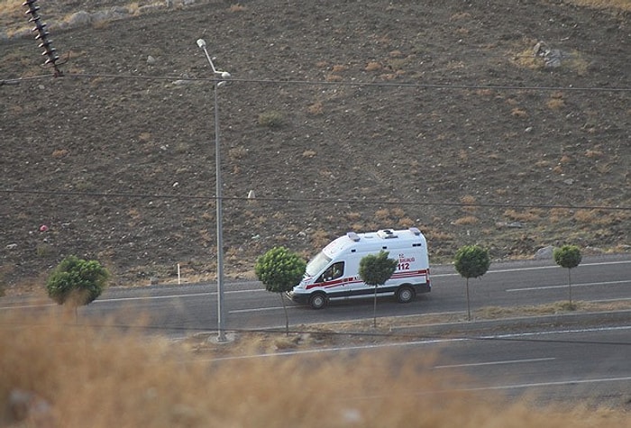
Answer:
[[[0,319],[0,425],[631,426],[620,411],[534,409],[455,392],[462,379],[435,376],[431,359],[199,360],[178,343],[73,321]]]

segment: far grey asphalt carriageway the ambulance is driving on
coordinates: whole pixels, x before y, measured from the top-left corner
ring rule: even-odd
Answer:
[[[432,269],[432,292],[402,305],[393,298],[378,302],[378,316],[463,313],[467,309],[465,281],[451,266]],[[231,282],[224,286],[226,330],[283,327],[279,295],[258,282]],[[470,279],[471,310],[484,306],[542,305],[569,298],[568,272],[550,260],[498,263],[481,278]],[[572,269],[572,299],[615,301],[631,299],[631,258],[585,259]],[[323,310],[287,302],[289,323],[330,323],[371,318],[372,299],[332,302]],[[0,302],[2,305],[2,302]],[[169,333],[217,328],[216,285],[175,285],[113,288],[93,304],[80,308],[89,317],[114,316],[131,323],[139,314],[151,316],[151,326]]]

